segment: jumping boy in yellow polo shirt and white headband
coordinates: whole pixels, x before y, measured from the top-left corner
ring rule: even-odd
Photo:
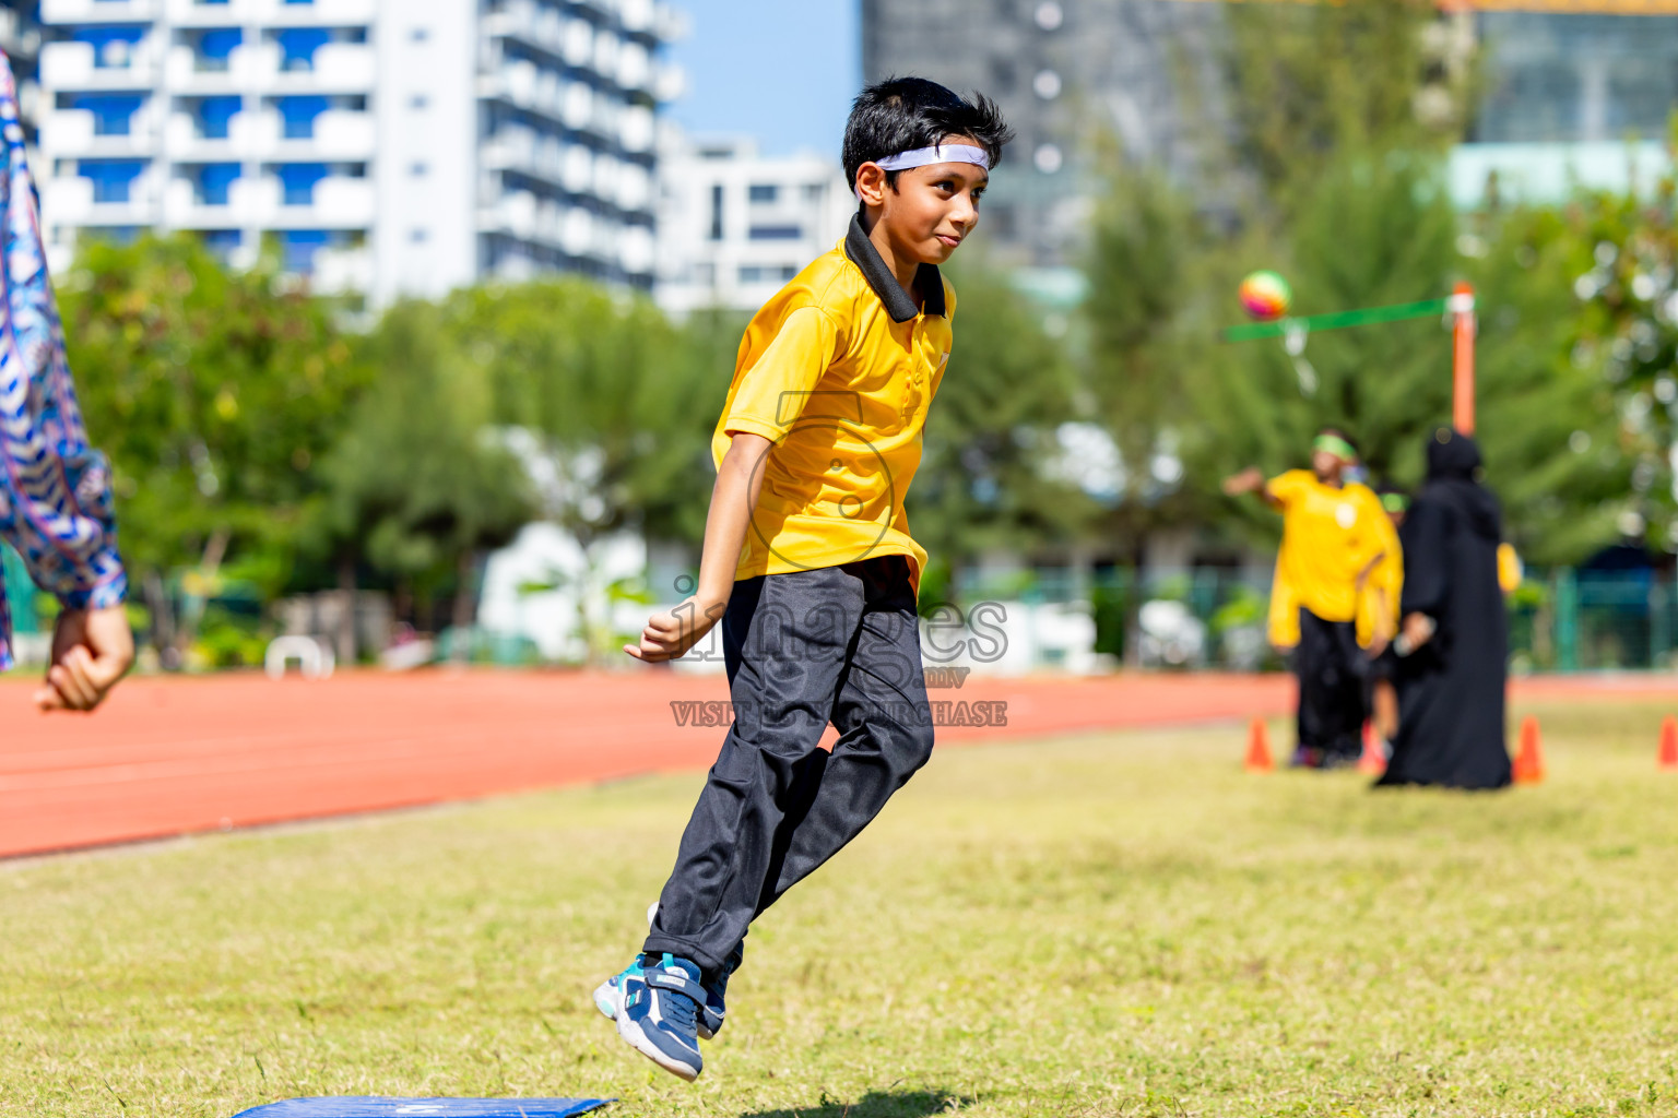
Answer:
[[[903,496],[950,360],[955,292],[938,265],[978,223],[1010,137],[995,104],[923,79],[856,99],[844,164],[857,213],[747,327],[711,437],[696,593],[624,647],[670,660],[722,620],[735,707],[643,954],[594,994],[619,1036],[683,1079],[722,1027],[752,920],[931,754],[915,613],[926,553]],[[831,756],[817,748],[829,722]]]

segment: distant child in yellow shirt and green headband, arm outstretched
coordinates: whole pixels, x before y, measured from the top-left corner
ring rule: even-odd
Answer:
[[[1299,679],[1295,764],[1354,764],[1363,751],[1369,659],[1358,642],[1358,615],[1393,546],[1393,525],[1373,489],[1346,481],[1356,461],[1351,439],[1324,427],[1311,469],[1265,481],[1252,468],[1223,483],[1230,496],[1258,493],[1282,513],[1270,639],[1292,652]]]

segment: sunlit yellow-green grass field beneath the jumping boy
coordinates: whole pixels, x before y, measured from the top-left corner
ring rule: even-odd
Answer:
[[[0,1115],[1678,1115],[1661,711],[1539,712],[1498,796],[1238,727],[946,749],[753,930],[695,1086],[589,1004],[693,774],[0,863]]]

